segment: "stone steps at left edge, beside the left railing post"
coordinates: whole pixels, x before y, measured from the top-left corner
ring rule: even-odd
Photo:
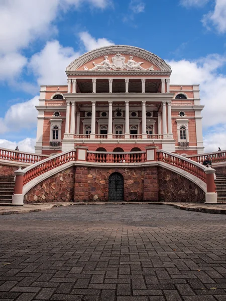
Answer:
[[[14,176],[0,177],[0,205],[12,204],[14,186]]]

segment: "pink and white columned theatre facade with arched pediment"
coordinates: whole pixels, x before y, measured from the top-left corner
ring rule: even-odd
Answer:
[[[157,145],[203,153],[199,85],[170,85],[171,67],[132,46],[95,49],[67,68],[67,85],[41,86],[36,153],[87,146],[136,152]]]

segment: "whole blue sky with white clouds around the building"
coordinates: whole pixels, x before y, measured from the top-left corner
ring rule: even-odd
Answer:
[[[205,151],[226,149],[226,0],[0,0],[0,146],[34,152],[40,84],[110,44],[144,48],[200,84]]]

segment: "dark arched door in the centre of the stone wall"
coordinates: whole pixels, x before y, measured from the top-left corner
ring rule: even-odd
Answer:
[[[108,178],[108,201],[121,202],[124,195],[124,179],[120,173],[113,173]]]

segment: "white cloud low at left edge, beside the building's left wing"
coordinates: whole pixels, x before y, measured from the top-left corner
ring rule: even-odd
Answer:
[[[0,133],[9,131],[18,132],[22,129],[30,129],[37,125],[38,111],[35,105],[38,105],[39,97],[13,104],[5,114],[0,118]]]

